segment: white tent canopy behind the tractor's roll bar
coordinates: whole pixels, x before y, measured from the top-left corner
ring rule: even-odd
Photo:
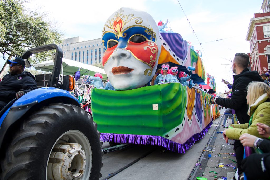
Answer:
[[[62,64],[63,64],[63,74],[64,75],[73,75],[74,72],[77,72],[78,69],[81,68],[82,69],[81,76],[83,76],[83,75],[94,76],[95,73],[101,73],[103,76],[103,79],[107,78],[107,75],[106,75],[104,69],[96,67],[96,66],[92,66],[92,65],[84,64],[84,63],[79,63],[77,61],[73,61],[73,60],[65,59],[65,58],[63,58],[63,60],[62,60]],[[42,63],[34,64],[34,67],[36,70],[52,72],[53,65],[54,65],[53,60],[49,60],[49,61],[45,61]]]

